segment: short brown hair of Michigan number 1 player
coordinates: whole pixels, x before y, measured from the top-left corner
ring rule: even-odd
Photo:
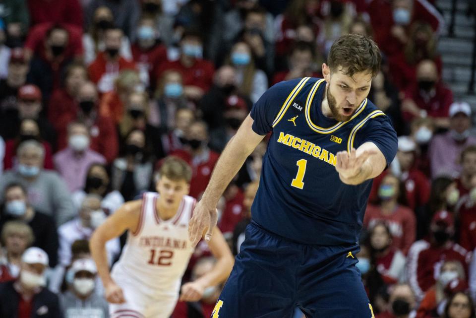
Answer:
[[[370,38],[359,34],[346,34],[337,39],[327,56],[327,65],[331,71],[342,70],[346,75],[367,72],[372,78],[380,70],[380,50]]]

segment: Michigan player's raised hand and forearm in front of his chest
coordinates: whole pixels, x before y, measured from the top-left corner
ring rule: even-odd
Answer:
[[[337,153],[336,170],[341,181],[347,185],[358,185],[377,177],[387,166],[382,151],[373,143],[365,142],[351,152]]]

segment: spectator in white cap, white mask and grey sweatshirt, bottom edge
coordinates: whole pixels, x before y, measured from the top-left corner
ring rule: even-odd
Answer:
[[[71,272],[72,288],[60,295],[64,318],[109,317],[108,303],[96,292],[96,264],[91,258],[75,260]]]

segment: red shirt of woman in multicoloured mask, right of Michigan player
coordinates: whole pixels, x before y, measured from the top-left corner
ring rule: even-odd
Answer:
[[[397,205],[395,211],[385,215],[379,206],[369,204],[365,211],[363,226],[371,228],[378,221],[384,221],[392,233],[392,248],[407,254],[415,242],[416,219],[415,214],[408,207]]]

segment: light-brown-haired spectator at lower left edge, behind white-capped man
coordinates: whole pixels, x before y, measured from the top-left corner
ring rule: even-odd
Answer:
[[[0,258],[1,281],[18,277],[21,255],[28,249],[35,237],[31,227],[22,221],[10,221],[1,227],[2,257]]]

